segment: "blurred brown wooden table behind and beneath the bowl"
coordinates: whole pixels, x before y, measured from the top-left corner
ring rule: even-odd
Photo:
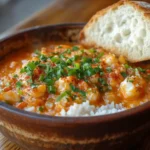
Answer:
[[[47,8],[33,14],[30,18],[12,27],[3,35],[37,25],[87,22],[96,11],[116,1],[117,0],[53,0]],[[0,134],[0,150],[21,149]]]

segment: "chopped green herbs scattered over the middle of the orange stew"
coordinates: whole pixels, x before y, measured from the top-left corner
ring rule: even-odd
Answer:
[[[58,46],[61,48],[62,46]],[[31,88],[36,88],[41,82],[47,86],[47,92],[55,94],[56,87],[55,81],[61,77],[66,76],[76,76],[78,79],[88,81],[88,78],[94,74],[104,75],[104,70],[97,63],[100,63],[100,58],[104,55],[104,52],[97,53],[96,49],[90,49],[89,51],[97,56],[96,58],[91,58],[91,54],[86,53],[84,50],[80,50],[82,55],[74,55],[68,57],[66,54],[71,54],[72,51],[78,51],[80,48],[78,46],[73,46],[71,49],[66,49],[63,52],[56,52],[54,56],[46,56],[41,54],[40,51],[35,53],[38,55],[39,61],[31,61],[20,70],[20,73],[26,73],[30,76],[27,82],[30,84]],[[37,69],[37,70],[36,70]],[[106,68],[107,72],[111,72],[110,67]],[[36,74],[34,74],[36,73]],[[100,87],[106,88],[108,86],[104,78],[99,79]],[[70,85],[73,92],[77,92],[82,96],[86,96],[86,92],[80,90],[74,85]],[[68,93],[68,92],[65,92]],[[62,96],[65,94],[62,94]],[[60,99],[62,96],[59,96]]]

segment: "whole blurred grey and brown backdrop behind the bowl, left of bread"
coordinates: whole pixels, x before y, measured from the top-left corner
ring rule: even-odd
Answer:
[[[47,24],[87,22],[117,0],[0,0],[0,37]]]

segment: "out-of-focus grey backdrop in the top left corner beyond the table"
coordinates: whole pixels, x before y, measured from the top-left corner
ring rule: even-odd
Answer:
[[[0,33],[11,28],[53,0],[0,0]],[[55,0],[54,0],[55,1]]]

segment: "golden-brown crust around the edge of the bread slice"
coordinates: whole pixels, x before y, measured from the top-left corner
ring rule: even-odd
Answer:
[[[102,45],[101,46],[98,46],[97,43],[95,42],[92,42],[92,41],[88,41],[86,42],[85,39],[86,39],[86,36],[85,36],[85,31],[88,27],[90,27],[93,22],[96,22],[98,20],[98,18],[100,18],[101,16],[105,15],[109,10],[115,10],[117,9],[119,6],[121,5],[124,5],[124,4],[129,4],[131,6],[133,6],[136,10],[138,11],[141,11],[145,17],[145,19],[148,19],[150,20],[150,4],[147,3],[147,2],[143,2],[143,1],[129,1],[129,0],[121,0],[111,6],[108,6],[107,8],[105,9],[102,9],[101,11],[98,11],[90,20],[89,22],[86,24],[86,26],[83,28],[83,30],[80,32],[80,36],[79,36],[79,40],[80,40],[80,43],[82,45],[84,45],[85,47],[100,47],[100,48],[103,48],[103,49],[106,49],[106,51],[109,51],[109,52],[112,52],[116,55],[120,55],[120,52],[117,48],[115,47],[111,47],[111,49],[107,49],[107,47],[103,47]],[[139,61],[145,61],[145,60],[150,60],[150,55],[147,56],[147,57],[144,57],[144,58],[141,58],[141,59],[130,59],[128,57],[128,53],[125,52],[123,54],[124,57],[126,57],[126,59],[130,62],[139,62]]]

